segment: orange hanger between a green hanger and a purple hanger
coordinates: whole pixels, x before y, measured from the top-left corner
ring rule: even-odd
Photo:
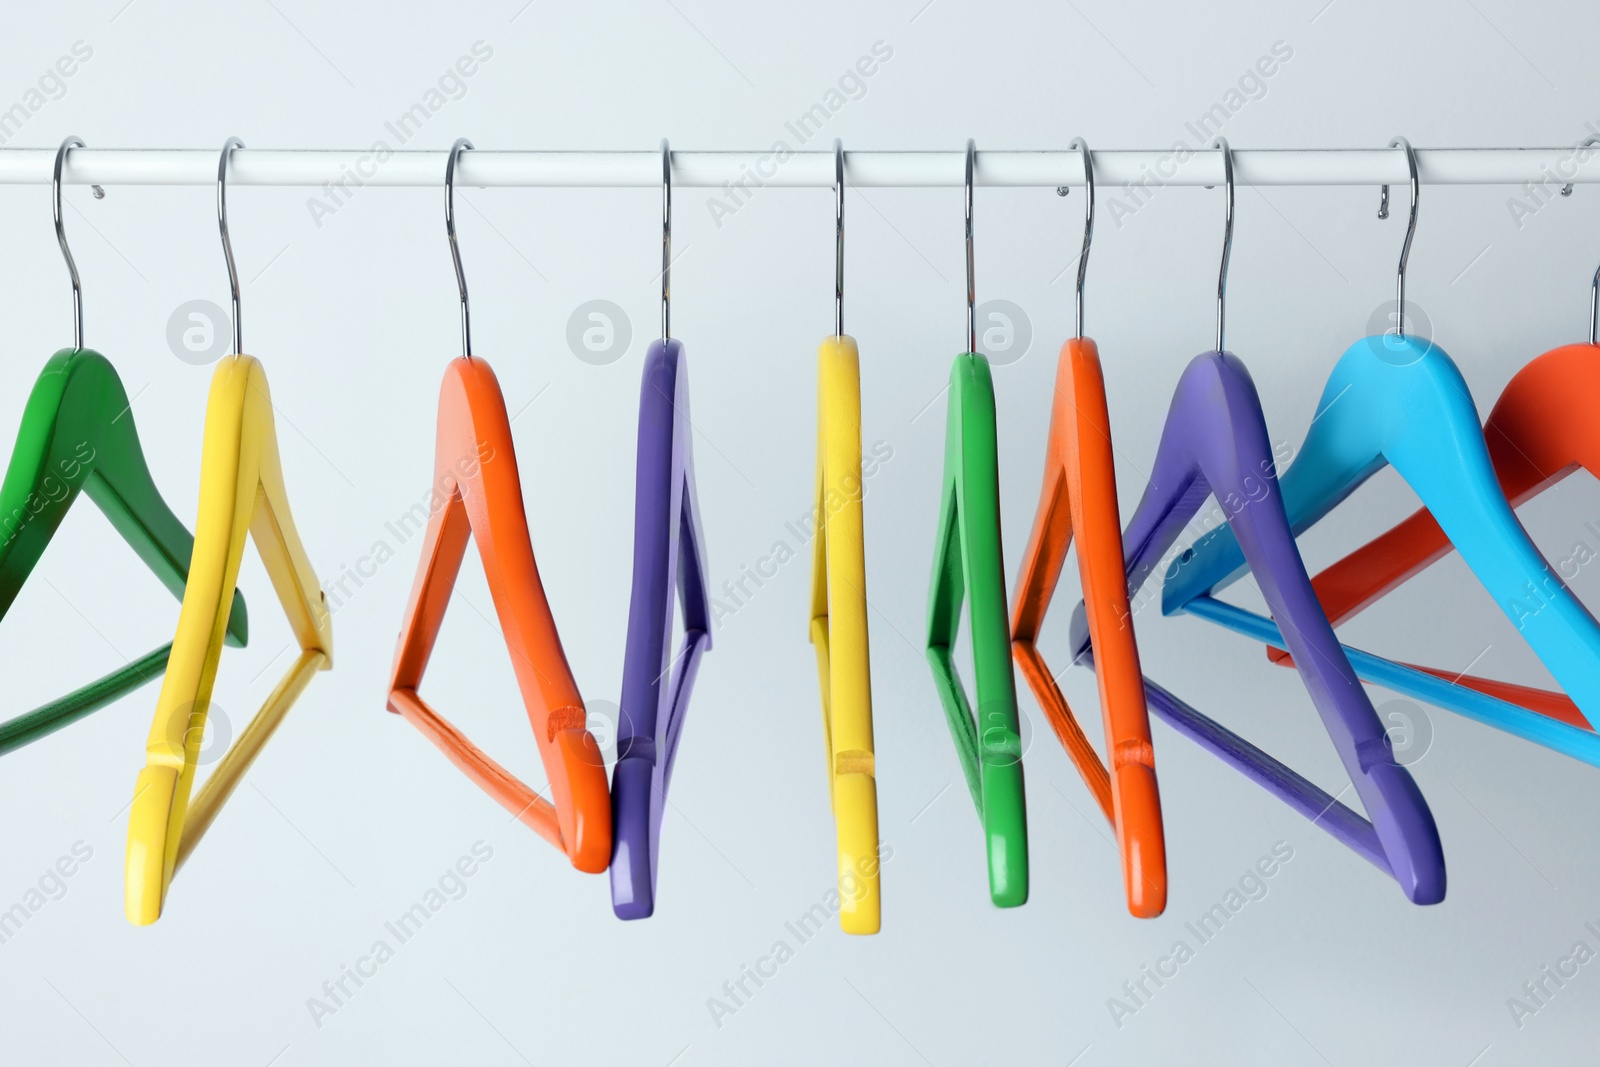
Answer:
[[[1099,349],[1083,336],[1083,278],[1094,238],[1094,162],[1082,138],[1072,147],[1083,157],[1085,197],[1077,336],[1061,346],[1056,363],[1043,490],[1011,608],[1011,654],[1056,737],[1078,768],[1083,784],[1117,830],[1128,910],[1139,918],[1152,918],[1166,907],[1166,841],[1162,830],[1162,797],[1155,784],[1155,752],[1150,747],[1150,715],[1144,702],[1139,648],[1134,643],[1133,609],[1128,606],[1123,574],[1106,378],[1101,373]],[[1074,533],[1078,534],[1078,576],[1083,582],[1090,638],[1098,651],[1099,667],[1094,675],[1115,781],[1083,736],[1083,728],[1056,685],[1054,672],[1035,643]]]

